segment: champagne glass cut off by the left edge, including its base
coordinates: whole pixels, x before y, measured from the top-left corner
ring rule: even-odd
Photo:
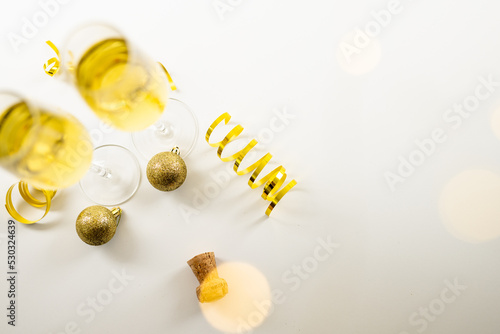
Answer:
[[[8,92],[0,92],[0,166],[38,189],[80,181],[91,200],[107,206],[128,200],[140,182],[139,162],[129,150],[117,145],[93,150],[74,116]]]

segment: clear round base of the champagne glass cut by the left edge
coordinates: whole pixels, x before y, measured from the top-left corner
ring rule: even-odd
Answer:
[[[118,145],[103,145],[94,150],[92,165],[80,187],[91,201],[113,206],[134,196],[140,181],[141,168],[132,152]]]

